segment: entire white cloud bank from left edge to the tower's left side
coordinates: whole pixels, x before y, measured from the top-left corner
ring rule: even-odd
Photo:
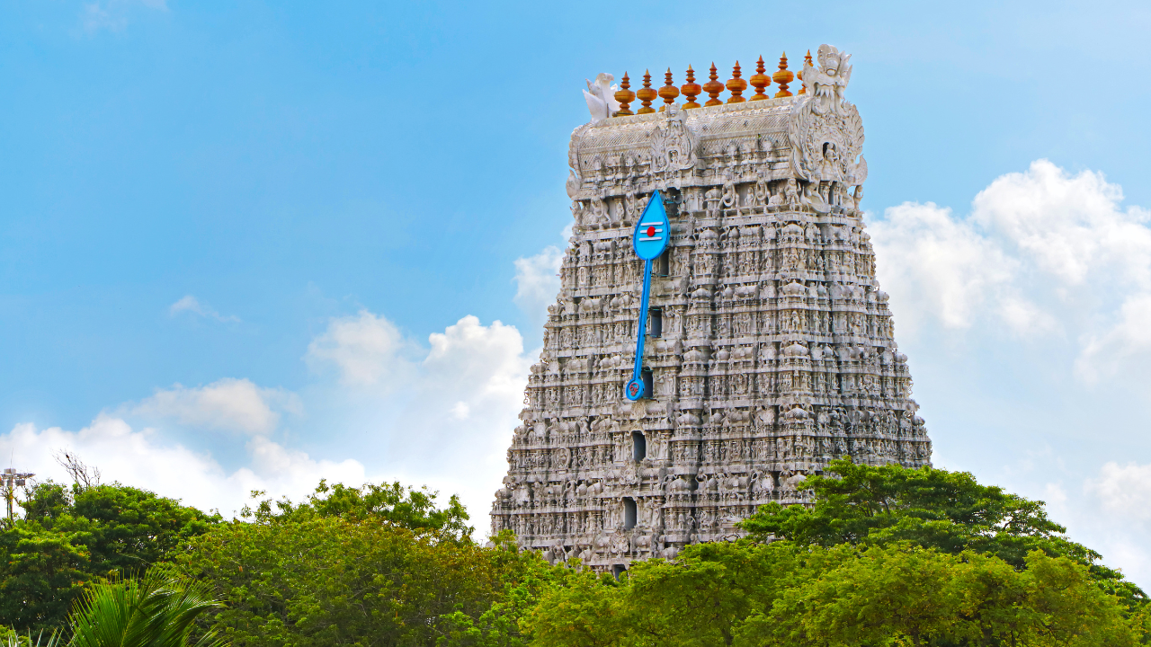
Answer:
[[[40,478],[61,480],[66,475],[52,455],[69,450],[98,466],[106,481],[228,513],[243,507],[252,489],[299,500],[320,478],[359,485],[366,480],[361,460],[368,460],[373,480],[427,485],[443,493],[442,501],[458,494],[479,532],[487,531],[531,364],[513,326],[483,326],[468,315],[421,347],[386,318],[361,311],[334,319],[306,359],[336,368],[330,383],[321,376],[302,395],[246,379],[175,385],[113,408],[78,432],[17,425],[0,435],[0,452],[13,451],[22,469]],[[305,435],[327,451],[355,452],[358,460],[315,460],[270,440],[283,432],[285,414],[302,413],[305,404],[321,413],[310,419],[322,425]],[[134,431],[125,418],[159,424]],[[298,436],[308,421],[289,435]],[[231,463],[238,454],[242,466],[226,471],[212,456],[171,442],[161,431],[169,423],[243,434],[243,446],[222,448]]]

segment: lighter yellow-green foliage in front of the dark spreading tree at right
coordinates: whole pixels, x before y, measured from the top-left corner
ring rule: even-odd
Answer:
[[[1138,614],[1087,568],[1035,550],[737,542],[633,564],[613,583],[580,573],[525,619],[541,647],[1138,645]]]

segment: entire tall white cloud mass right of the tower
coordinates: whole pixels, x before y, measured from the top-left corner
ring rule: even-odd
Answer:
[[[952,427],[937,446],[1045,498],[1072,539],[1146,585],[1151,465],[1126,462],[1146,447],[1136,429],[1151,389],[1151,213],[1122,200],[1100,173],[1038,160],[991,182],[966,215],[908,203],[868,224],[899,341],[946,382],[924,405],[929,425]],[[993,368],[940,370],[956,357],[921,338]],[[1005,469],[1005,456],[1026,458]]]

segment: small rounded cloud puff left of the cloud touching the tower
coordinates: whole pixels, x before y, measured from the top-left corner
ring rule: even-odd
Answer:
[[[333,319],[308,344],[306,359],[313,370],[335,366],[345,386],[395,383],[410,373],[405,345],[395,324],[361,310]]]

